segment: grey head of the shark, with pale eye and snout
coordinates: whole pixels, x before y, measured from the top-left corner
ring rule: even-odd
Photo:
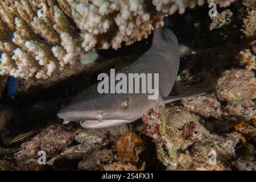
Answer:
[[[63,103],[57,113],[59,118],[80,122],[88,129],[98,129],[130,123],[140,118],[147,110],[146,94],[80,94],[76,100]],[[81,98],[81,100],[77,99]],[[152,101],[154,102],[154,101]]]

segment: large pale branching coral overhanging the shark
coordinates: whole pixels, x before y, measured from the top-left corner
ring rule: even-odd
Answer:
[[[221,7],[235,0],[208,0]],[[47,78],[94,48],[147,38],[164,15],[204,0],[0,1],[1,75]]]

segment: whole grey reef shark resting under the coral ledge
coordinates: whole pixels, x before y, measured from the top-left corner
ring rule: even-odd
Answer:
[[[148,93],[98,93],[97,83],[68,98],[61,105],[57,116],[69,121],[80,122],[86,129],[98,129],[130,123],[142,117],[151,107],[167,104],[187,97],[207,94],[188,93],[168,97],[179,70],[180,55],[177,38],[172,31],[168,17],[164,27],[156,28],[152,45],[137,61],[121,69],[119,72],[159,73],[159,97],[148,100]]]

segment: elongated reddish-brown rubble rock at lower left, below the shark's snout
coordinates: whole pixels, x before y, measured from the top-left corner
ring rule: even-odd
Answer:
[[[40,151],[44,151],[46,159],[52,158],[59,151],[64,150],[73,140],[73,134],[66,131],[63,126],[52,125],[22,144],[16,154],[17,169],[19,170],[43,170],[45,165],[38,163]]]

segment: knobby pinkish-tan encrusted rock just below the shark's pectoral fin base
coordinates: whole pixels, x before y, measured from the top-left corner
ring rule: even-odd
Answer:
[[[177,167],[177,150],[183,151],[200,139],[198,119],[182,107],[175,106],[168,109],[164,106],[154,107],[145,113],[144,133],[154,139],[156,155],[167,169]]]

